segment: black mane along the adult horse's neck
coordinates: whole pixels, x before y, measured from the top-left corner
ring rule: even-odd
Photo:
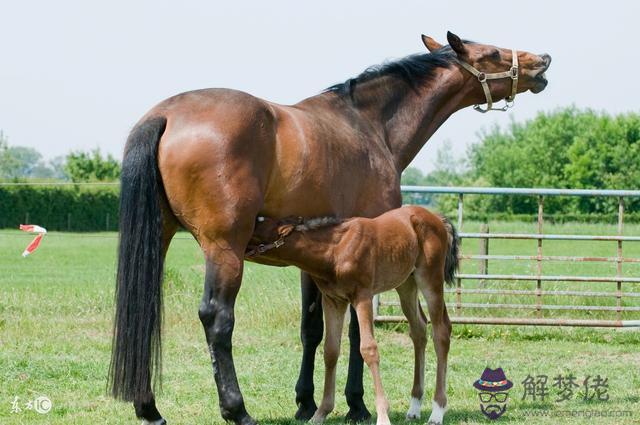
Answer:
[[[339,96],[353,97],[356,86],[373,80],[374,78],[396,77],[415,89],[419,84],[429,81],[438,68],[448,68],[455,53],[450,46],[444,46],[434,53],[414,54],[392,62],[384,62],[365,69],[360,75],[350,78],[344,83],[328,87],[325,92],[336,93]]]

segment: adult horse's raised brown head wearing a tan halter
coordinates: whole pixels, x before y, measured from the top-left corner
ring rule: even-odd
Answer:
[[[489,109],[491,109],[492,100],[512,101],[517,93],[528,90],[532,93],[540,93],[547,86],[545,71],[551,64],[551,56],[548,54],[536,55],[515,49],[462,41],[451,32],[447,33],[449,46],[443,46],[425,35],[422,36],[422,41],[432,53],[443,52],[449,48],[453,51],[461,71],[471,77],[471,84],[477,86],[477,90],[473,90],[473,101],[487,102]],[[514,53],[516,60],[514,60]],[[489,95],[487,95],[487,89]],[[481,110],[481,112],[484,111]]]

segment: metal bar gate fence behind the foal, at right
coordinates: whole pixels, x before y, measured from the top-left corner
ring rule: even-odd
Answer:
[[[536,255],[519,254],[480,254],[460,255],[461,261],[482,260],[493,261],[534,261],[535,273],[531,274],[487,274],[487,273],[460,273],[456,277],[456,285],[453,289],[446,289],[447,294],[453,295],[454,302],[447,303],[447,307],[455,314],[451,318],[453,323],[473,323],[473,324],[509,324],[509,325],[543,325],[543,326],[593,326],[593,327],[640,327],[640,314],[637,319],[623,320],[623,313],[640,312],[640,305],[623,305],[623,299],[632,301],[638,300],[640,292],[629,290],[629,286],[640,284],[640,277],[626,277],[622,273],[624,263],[640,263],[640,258],[627,258],[623,256],[623,242],[640,242],[640,236],[624,236],[624,213],[626,198],[640,198],[640,190],[582,190],[582,189],[525,189],[525,188],[476,188],[476,187],[422,187],[422,186],[402,186],[403,193],[428,193],[428,194],[453,194],[458,196],[457,227],[459,235],[464,239],[490,239],[507,240],[535,240],[537,241]],[[476,232],[465,233],[463,231],[464,217],[464,195],[522,195],[535,196],[538,200],[537,212],[537,233],[489,233]],[[616,235],[565,235],[565,234],[545,234],[544,230],[544,199],[555,196],[578,196],[578,197],[614,197],[618,199],[618,228]],[[543,253],[543,241],[563,240],[575,241],[609,241],[616,242],[616,256],[577,256],[577,255],[545,255]],[[548,262],[588,262],[588,263],[616,263],[615,276],[580,276],[580,275],[545,275],[543,274],[543,264]],[[513,285],[522,282],[535,282],[536,287],[530,289],[490,289],[490,288],[468,288],[463,286],[464,281],[501,281],[511,282]],[[545,290],[543,282],[584,282],[595,284],[600,290]],[[614,291],[604,291],[606,285],[614,283]],[[623,284],[626,291],[623,292]],[[486,295],[483,302],[463,302],[464,295]],[[506,295],[510,297],[531,296],[535,297],[535,303],[506,303],[491,302],[496,295]],[[613,299],[615,305],[565,305],[546,304],[545,296],[553,297],[598,297],[599,299]],[[397,301],[389,301],[386,298],[376,296],[374,302],[374,317],[378,322],[399,322],[403,321],[403,316],[381,314],[383,309],[397,307]],[[465,316],[462,315],[465,309],[483,309],[485,311],[510,310],[517,312],[534,311],[536,317],[485,317],[485,316]],[[569,318],[547,318],[543,317],[545,311],[578,311],[578,312],[610,312],[615,314],[611,319],[569,319]]]

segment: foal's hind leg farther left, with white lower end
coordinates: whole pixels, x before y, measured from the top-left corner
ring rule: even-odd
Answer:
[[[409,321],[409,336],[413,341],[414,371],[411,402],[407,419],[420,419],[422,396],[424,394],[424,350],[427,345],[427,320],[420,306],[418,289],[413,276],[396,288],[400,296],[402,312]]]

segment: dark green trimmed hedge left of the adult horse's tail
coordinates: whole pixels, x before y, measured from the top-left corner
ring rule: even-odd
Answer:
[[[118,188],[0,186],[0,228],[38,224],[47,230],[118,230]]]

